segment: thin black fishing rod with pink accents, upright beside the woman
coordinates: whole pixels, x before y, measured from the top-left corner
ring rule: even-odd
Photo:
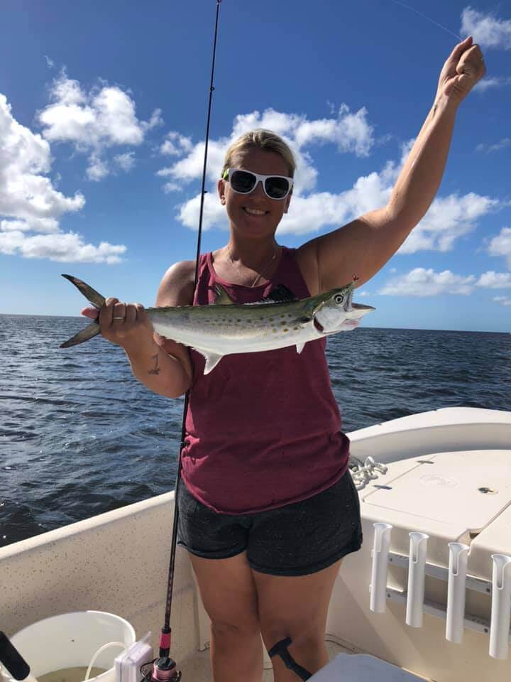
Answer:
[[[215,30],[214,30],[214,39],[213,39],[213,56],[211,58],[211,80],[209,83],[209,102],[208,102],[208,113],[207,113],[207,124],[206,124],[206,144],[204,146],[204,165],[202,167],[202,188],[201,188],[201,203],[200,203],[200,212],[199,212],[199,231],[197,234],[197,251],[196,251],[196,256],[195,256],[195,277],[194,277],[194,291],[197,288],[197,279],[199,277],[199,256],[200,256],[200,249],[201,249],[201,239],[202,239],[202,218],[204,215],[204,195],[206,194],[205,190],[205,183],[206,183],[206,167],[207,167],[207,152],[208,152],[208,143],[209,143],[209,125],[211,121],[211,102],[213,98],[213,92],[214,92],[214,85],[213,85],[213,79],[214,79],[214,68],[215,68],[215,60],[216,60],[216,38],[218,36],[218,26],[219,26],[219,10],[220,10],[220,4],[221,0],[216,0],[216,19],[215,19]],[[168,577],[168,585],[167,585],[167,600],[166,600],[166,606],[165,606],[165,620],[164,620],[164,625],[161,629],[161,634],[160,634],[160,659],[156,661],[155,667],[153,668],[153,679],[169,679],[168,671],[169,667],[172,669],[172,666],[170,666],[170,663],[168,661],[172,661],[172,659],[168,659],[168,656],[170,654],[170,642],[171,642],[171,628],[170,628],[170,612],[172,609],[172,590],[174,587],[174,573],[175,573],[175,555],[176,555],[176,546],[177,546],[177,521],[179,519],[179,508],[177,506],[177,494],[180,486],[180,477],[181,477],[181,454],[182,450],[187,445],[185,441],[186,437],[186,416],[187,416],[187,411],[188,411],[188,401],[189,401],[189,391],[186,392],[185,394],[185,404],[183,405],[183,416],[182,416],[182,427],[181,427],[181,442],[180,442],[180,450],[179,450],[179,457],[177,458],[178,463],[177,463],[177,476],[176,476],[176,483],[175,483],[175,491],[174,491],[174,523],[172,525],[172,542],[170,545],[170,565],[169,565],[169,577]],[[158,666],[158,662],[163,661],[160,666]],[[166,661],[166,662],[165,662]],[[174,663],[174,661],[172,661]],[[175,664],[174,664],[174,669],[175,669]],[[179,673],[180,675],[180,673]],[[175,677],[175,676],[174,676]]]

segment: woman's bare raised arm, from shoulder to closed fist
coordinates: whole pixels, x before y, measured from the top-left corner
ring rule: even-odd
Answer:
[[[297,257],[317,272],[318,291],[343,286],[353,275],[368,281],[422,220],[441,183],[459,104],[485,74],[472,38],[456,45],[441,70],[434,104],[397,178],[388,204],[312,239]],[[317,263],[311,268],[310,261]]]

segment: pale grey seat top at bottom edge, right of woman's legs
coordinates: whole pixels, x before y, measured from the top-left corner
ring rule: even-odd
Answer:
[[[402,668],[367,654],[339,654],[311,682],[424,682]]]

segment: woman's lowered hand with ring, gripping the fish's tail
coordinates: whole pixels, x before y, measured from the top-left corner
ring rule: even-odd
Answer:
[[[106,340],[123,347],[126,352],[153,340],[153,325],[141,303],[121,303],[119,298],[107,298],[104,306],[84,308],[82,315],[96,320]]]

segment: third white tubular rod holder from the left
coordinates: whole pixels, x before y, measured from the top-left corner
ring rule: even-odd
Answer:
[[[465,619],[465,583],[468,551],[462,542],[449,543],[449,583],[447,586],[446,639],[461,644]]]

